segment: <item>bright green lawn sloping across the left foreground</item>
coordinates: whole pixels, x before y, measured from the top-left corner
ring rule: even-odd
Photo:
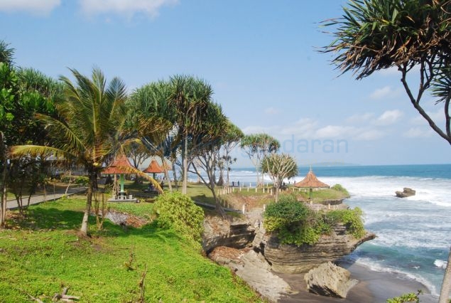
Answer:
[[[140,216],[151,204],[112,206]],[[123,228],[108,220],[91,238],[81,237],[83,198],[31,206],[26,218],[10,218],[0,233],[1,302],[26,302],[27,294],[51,302],[63,286],[79,302],[260,302],[227,268],[200,254],[200,245],[149,224]],[[186,300],[186,301],[184,301]]]

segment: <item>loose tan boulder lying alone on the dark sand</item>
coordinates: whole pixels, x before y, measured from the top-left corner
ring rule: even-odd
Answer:
[[[332,262],[310,270],[304,276],[310,292],[328,297],[346,298],[347,292],[359,281],[350,279],[351,273]]]

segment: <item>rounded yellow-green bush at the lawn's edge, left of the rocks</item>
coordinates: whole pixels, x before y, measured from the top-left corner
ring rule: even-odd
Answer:
[[[153,206],[159,228],[173,228],[185,238],[200,242],[204,211],[192,199],[178,192],[164,193]]]

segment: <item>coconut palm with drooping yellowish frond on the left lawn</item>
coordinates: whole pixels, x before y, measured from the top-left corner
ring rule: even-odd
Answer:
[[[102,164],[118,149],[121,129],[126,117],[126,87],[119,78],[108,85],[98,68],[91,79],[70,69],[75,84],[60,77],[64,83],[63,98],[55,100],[58,117],[36,115],[46,124],[53,139],[51,146],[21,145],[11,148],[12,156],[39,156],[51,153],[60,161],[70,161],[87,171],[89,186],[82,219],[81,233],[87,234],[92,193]]]

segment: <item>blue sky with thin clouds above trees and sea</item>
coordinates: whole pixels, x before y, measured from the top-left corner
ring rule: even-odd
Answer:
[[[15,63],[53,78],[99,67],[130,92],[171,75],[210,83],[245,134],[266,132],[301,165],[451,163],[396,69],[340,75],[320,22],[344,0],[0,0],[0,40]],[[415,77],[410,79],[415,85]],[[443,127],[443,108],[423,97]],[[249,166],[236,151],[237,166]]]

